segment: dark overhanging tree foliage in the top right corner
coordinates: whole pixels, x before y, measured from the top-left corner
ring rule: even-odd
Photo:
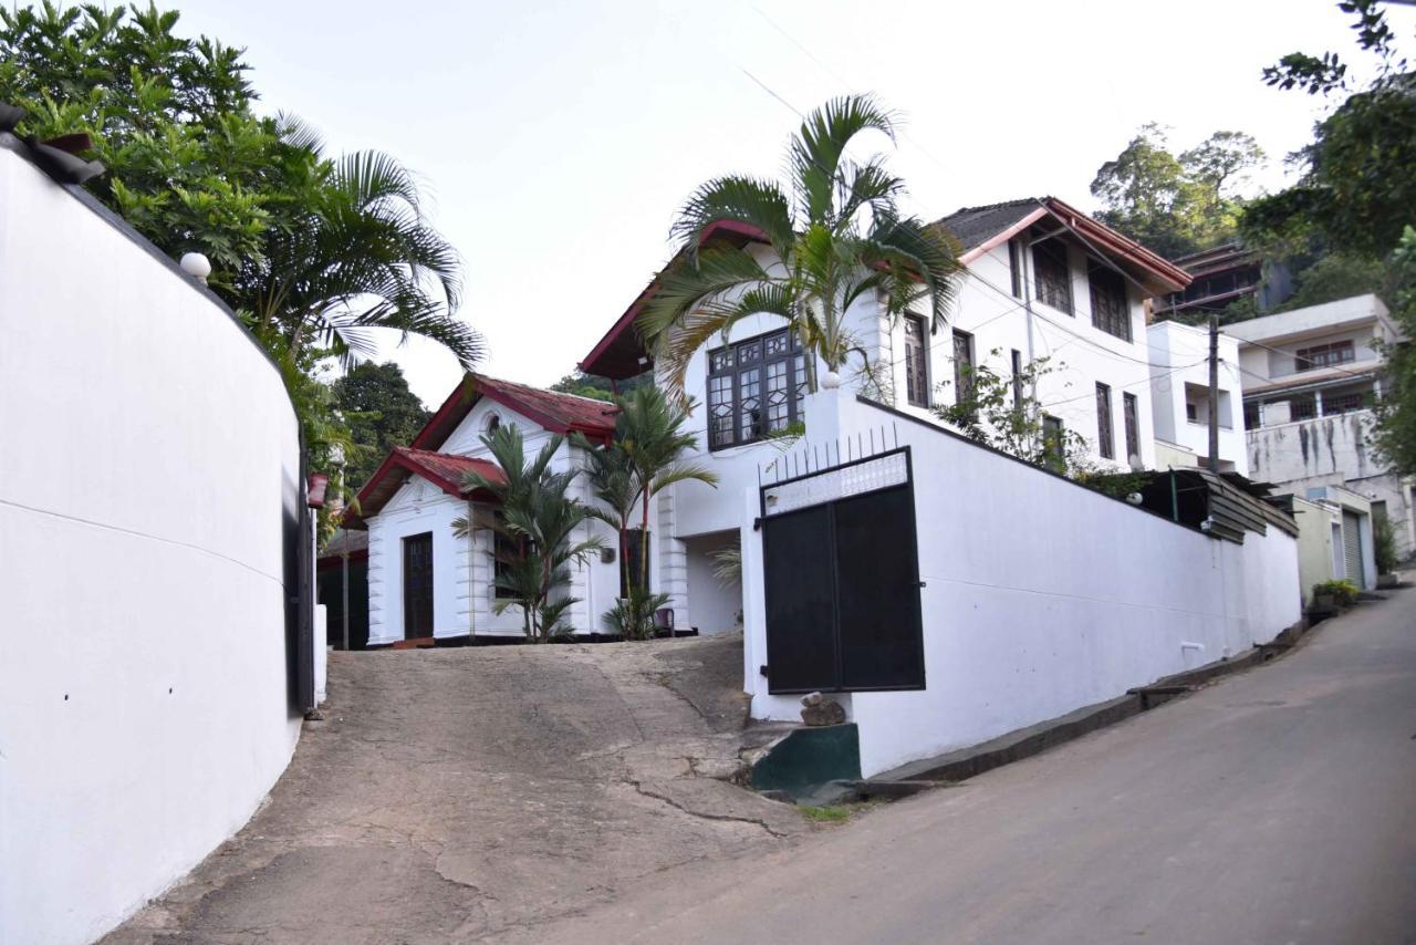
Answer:
[[[1304,248],[1314,238],[1337,252],[1379,259],[1413,222],[1416,207],[1416,77],[1396,51],[1396,35],[1378,0],[1345,0],[1358,45],[1376,77],[1355,89],[1345,61],[1294,52],[1264,69],[1264,81],[1310,95],[1344,96],[1314,129],[1297,157],[1294,187],[1253,201],[1245,235],[1264,247]]]

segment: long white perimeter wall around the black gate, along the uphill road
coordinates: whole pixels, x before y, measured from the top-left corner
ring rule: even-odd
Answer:
[[[809,409],[817,429],[834,409],[841,431],[884,425],[913,451],[927,689],[843,698],[867,776],[1238,653],[1301,615],[1297,543],[1277,528],[1214,540],[851,395]],[[797,698],[756,672],[762,543],[755,494],[738,502],[752,711],[794,720]]]

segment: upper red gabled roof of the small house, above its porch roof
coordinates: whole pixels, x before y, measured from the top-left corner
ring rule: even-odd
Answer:
[[[615,435],[615,415],[619,414],[615,404],[469,374],[413,438],[412,446],[415,449],[442,446],[483,397],[555,434],[585,434],[598,441],[607,441]]]

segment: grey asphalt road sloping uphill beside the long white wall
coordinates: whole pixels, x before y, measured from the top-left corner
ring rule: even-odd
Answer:
[[[1416,589],[1269,666],[537,942],[1416,942]]]

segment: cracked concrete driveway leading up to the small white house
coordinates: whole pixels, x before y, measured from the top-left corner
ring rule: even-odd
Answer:
[[[535,938],[651,874],[782,847],[739,766],[741,636],[334,653],[265,806],[105,941]]]

